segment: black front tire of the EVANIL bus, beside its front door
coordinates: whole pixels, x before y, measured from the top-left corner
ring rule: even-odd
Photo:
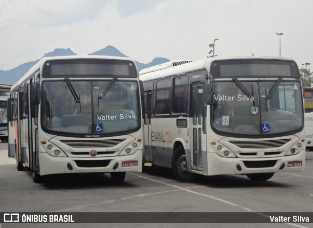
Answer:
[[[187,157],[182,146],[175,149],[172,157],[172,171],[174,176],[181,182],[191,182],[195,174],[188,171]]]

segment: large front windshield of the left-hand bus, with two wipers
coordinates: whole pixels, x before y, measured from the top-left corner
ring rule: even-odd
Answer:
[[[114,81],[44,81],[43,128],[54,134],[91,137],[136,130],[140,126],[137,82]]]

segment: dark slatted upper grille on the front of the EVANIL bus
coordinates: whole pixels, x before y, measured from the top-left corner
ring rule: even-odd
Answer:
[[[240,148],[276,148],[288,143],[291,139],[263,140],[263,141],[229,141]]]

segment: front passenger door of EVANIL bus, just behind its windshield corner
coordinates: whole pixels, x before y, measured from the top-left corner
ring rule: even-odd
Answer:
[[[191,84],[191,134],[190,152],[192,169],[202,171],[202,115],[203,115],[203,82]]]

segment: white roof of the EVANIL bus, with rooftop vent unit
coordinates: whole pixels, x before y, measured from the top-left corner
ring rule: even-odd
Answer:
[[[214,58],[205,58],[205,59],[200,59],[197,61],[190,61],[185,64],[177,65],[174,66],[173,64],[171,65],[171,62],[163,63],[165,66],[156,65],[150,68],[145,68],[142,69],[139,72],[140,80],[142,81],[148,81],[148,80],[153,80],[156,78],[162,78],[165,76],[170,76],[170,75],[181,75],[185,74],[187,72],[193,72],[197,70],[203,70],[203,69],[208,69],[208,67],[211,65],[213,61],[219,61],[219,60],[241,60],[241,59],[268,59],[268,60],[286,60],[286,61],[292,61],[295,62],[291,58],[285,58],[285,57],[274,57],[274,56],[231,56],[231,57],[214,57]],[[174,61],[176,62],[176,61]],[[151,70],[151,68],[153,70]]]

